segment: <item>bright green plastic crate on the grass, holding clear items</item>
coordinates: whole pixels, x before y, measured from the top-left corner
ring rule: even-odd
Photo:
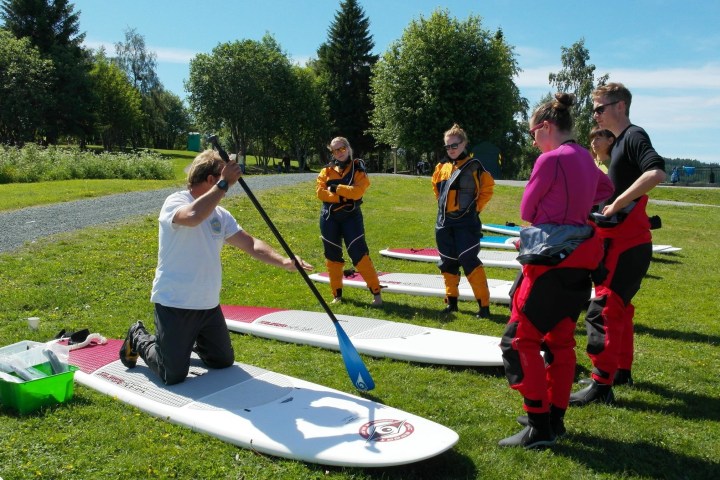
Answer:
[[[48,376],[22,383],[6,382],[0,379],[0,403],[3,406],[24,415],[42,407],[66,402],[72,398],[75,371],[78,367],[68,365],[67,372],[55,375],[51,375],[50,362],[34,365],[34,367]]]

